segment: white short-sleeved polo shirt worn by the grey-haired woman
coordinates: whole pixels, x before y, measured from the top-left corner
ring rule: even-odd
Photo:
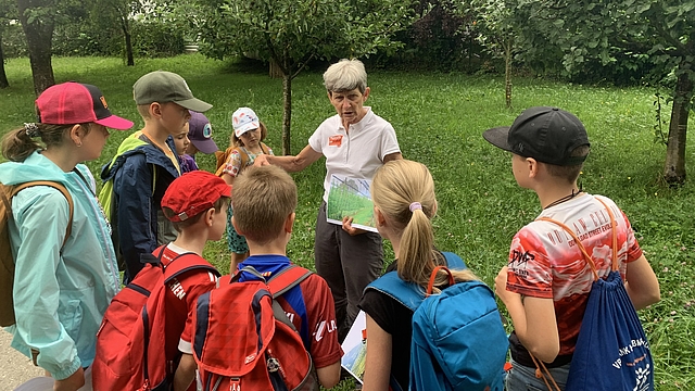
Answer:
[[[376,115],[370,106],[367,114],[345,131],[338,114],[324,121],[308,139],[314,151],[326,156],[324,201],[328,202],[331,175],[358,179],[374,178],[383,165],[383,157],[401,152],[393,126]]]

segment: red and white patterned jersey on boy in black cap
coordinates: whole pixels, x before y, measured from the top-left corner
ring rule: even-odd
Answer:
[[[628,263],[642,256],[642,250],[628,217],[611,200],[601,199],[616,216],[618,264],[624,280]],[[608,274],[612,232],[610,216],[598,200],[582,194],[544,210],[541,216],[571,228],[596,264],[598,276]],[[508,267],[508,291],[553,299],[560,340],[559,355],[572,353],[594,278],[574,240],[553,223],[532,222],[514,237]]]

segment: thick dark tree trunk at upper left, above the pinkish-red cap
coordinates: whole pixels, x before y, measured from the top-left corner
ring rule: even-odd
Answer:
[[[17,0],[20,21],[26,36],[34,77],[34,92],[39,96],[45,89],[55,84],[53,65],[51,64],[54,22],[50,16],[35,17],[28,23],[27,10],[49,8],[46,0]]]

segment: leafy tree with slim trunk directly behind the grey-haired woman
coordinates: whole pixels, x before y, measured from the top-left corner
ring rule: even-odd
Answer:
[[[292,79],[316,59],[394,50],[395,31],[409,23],[410,0],[199,0],[203,52],[247,55],[282,75],[282,152],[290,153]]]

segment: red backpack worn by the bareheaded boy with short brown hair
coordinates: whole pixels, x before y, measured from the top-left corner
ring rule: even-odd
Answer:
[[[241,272],[258,280],[239,282]],[[242,268],[198,298],[193,314],[193,357],[204,391],[318,390],[312,357],[274,299],[312,272],[289,266],[267,282],[253,267]]]

